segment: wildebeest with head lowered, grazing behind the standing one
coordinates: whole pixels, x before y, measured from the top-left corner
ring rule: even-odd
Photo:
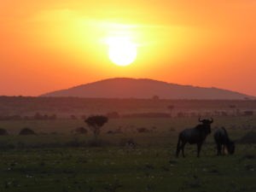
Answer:
[[[235,143],[230,141],[230,137],[228,132],[224,127],[218,128],[218,130],[214,131],[214,140],[217,145],[217,155],[224,154],[224,148],[228,149],[229,154],[234,154],[235,152]],[[223,148],[223,153],[221,153],[221,149]]]

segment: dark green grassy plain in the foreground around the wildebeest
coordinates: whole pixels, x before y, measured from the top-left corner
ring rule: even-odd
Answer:
[[[0,137],[1,192],[256,191],[256,145],[239,143],[256,130],[253,117],[214,119],[212,131],[224,125],[237,141],[234,155],[217,157],[210,135],[201,158],[195,157],[195,146],[188,145],[184,159],[174,156],[177,134],[197,125],[197,119],[110,119],[99,147],[93,147],[90,134],[70,134],[78,126],[86,128],[83,120],[0,123],[10,133]],[[152,126],[156,131],[135,132]],[[38,135],[18,136],[23,127]],[[106,133],[119,127],[122,134]],[[126,146],[128,139],[137,147]]]

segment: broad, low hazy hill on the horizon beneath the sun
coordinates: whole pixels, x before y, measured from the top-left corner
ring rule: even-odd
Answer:
[[[67,90],[56,90],[42,96],[74,96],[88,98],[152,98],[243,100],[255,98],[230,90],[169,84],[153,79],[104,79]]]

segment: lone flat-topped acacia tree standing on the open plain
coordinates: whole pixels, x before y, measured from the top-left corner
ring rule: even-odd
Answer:
[[[108,117],[102,115],[90,116],[85,119],[84,122],[89,126],[90,131],[93,132],[94,139],[96,140],[101,133],[102,126],[108,122]]]

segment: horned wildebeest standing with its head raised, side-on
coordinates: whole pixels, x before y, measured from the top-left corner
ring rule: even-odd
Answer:
[[[204,143],[207,135],[211,133],[211,124],[213,119],[198,119],[201,123],[200,125],[195,126],[195,128],[185,129],[181,131],[178,135],[177,141],[177,151],[176,156],[178,157],[180,149],[182,150],[183,157],[184,155],[184,147],[186,143],[189,144],[197,144],[197,157],[200,156],[201,145]]]

